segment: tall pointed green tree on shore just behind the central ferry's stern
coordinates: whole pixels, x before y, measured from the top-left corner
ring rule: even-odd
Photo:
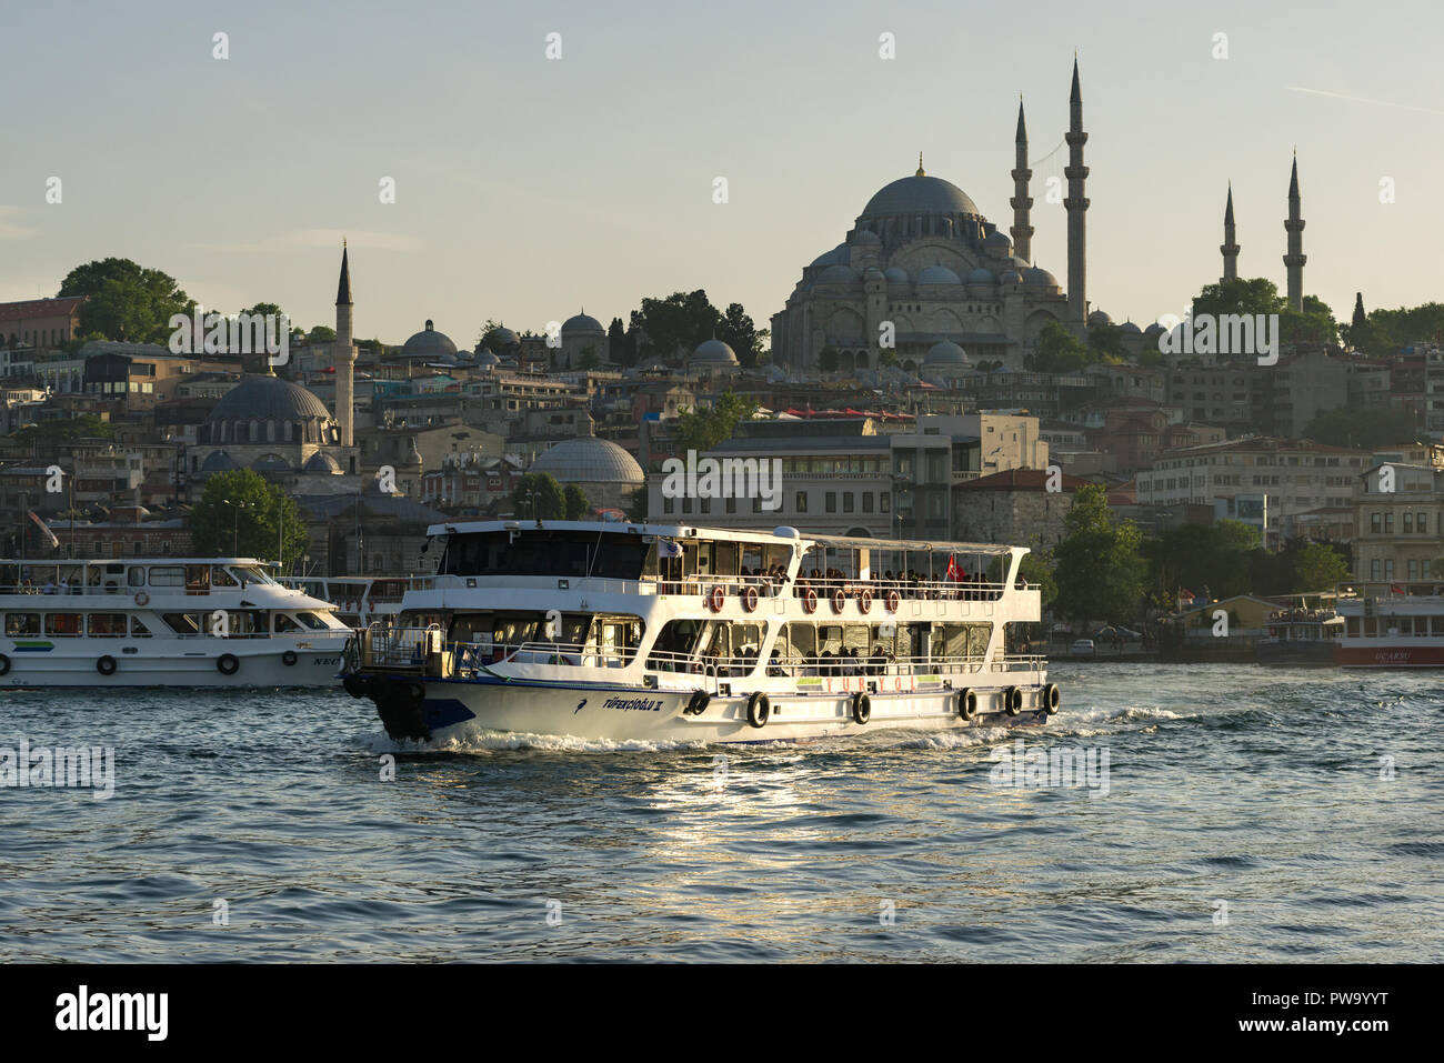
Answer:
[[[1086,484],[1073,495],[1063,529],[1063,542],[1053,549],[1056,611],[1070,620],[1131,621],[1144,596],[1147,572],[1138,526],[1115,521],[1103,488]]]

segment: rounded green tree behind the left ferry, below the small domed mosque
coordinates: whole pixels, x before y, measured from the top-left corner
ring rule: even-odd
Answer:
[[[191,510],[191,540],[201,556],[261,557],[283,566],[309,543],[296,500],[254,469],[217,472],[205,481]]]

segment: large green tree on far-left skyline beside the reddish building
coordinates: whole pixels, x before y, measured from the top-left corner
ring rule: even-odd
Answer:
[[[79,309],[82,332],[107,339],[165,342],[170,316],[189,315],[195,300],[175,277],[137,266],[130,259],[101,259],[77,266],[61,282],[61,296],[87,296]]]

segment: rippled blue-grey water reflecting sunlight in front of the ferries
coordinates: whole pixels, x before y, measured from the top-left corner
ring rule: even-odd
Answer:
[[[118,781],[0,790],[0,960],[1444,959],[1437,673],[1053,677],[1027,748],[1106,794],[993,784],[1017,732],[417,752],[339,692],[6,692],[0,745]]]

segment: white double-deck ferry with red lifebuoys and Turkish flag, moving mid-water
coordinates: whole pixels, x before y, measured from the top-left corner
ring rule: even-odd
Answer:
[[[573,521],[429,529],[344,683],[393,738],[796,741],[1043,724],[1024,547]]]

